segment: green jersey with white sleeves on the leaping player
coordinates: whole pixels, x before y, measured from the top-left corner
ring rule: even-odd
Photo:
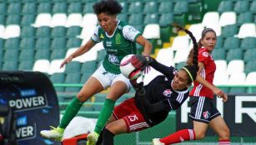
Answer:
[[[112,36],[103,31],[98,26],[92,36],[92,40],[96,43],[103,41],[103,46],[107,55],[103,60],[103,67],[110,73],[120,74],[120,62],[124,56],[136,54],[136,38],[141,35],[138,30],[118,21],[118,25]]]

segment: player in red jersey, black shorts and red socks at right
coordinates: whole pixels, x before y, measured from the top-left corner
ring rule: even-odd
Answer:
[[[198,42],[198,75],[213,85],[214,72],[216,65],[211,52],[216,44],[217,36],[211,28],[205,28]],[[193,64],[191,57],[193,51],[188,56],[188,64]],[[205,136],[208,126],[218,134],[218,144],[230,144],[229,129],[221,114],[213,106],[213,91],[204,87],[200,82],[194,81],[194,86],[190,96],[191,111],[189,117],[193,119],[193,129],[183,129],[165,138],[153,139],[153,145],[173,144],[183,141],[202,139]],[[221,96],[223,102],[227,101],[227,96]]]

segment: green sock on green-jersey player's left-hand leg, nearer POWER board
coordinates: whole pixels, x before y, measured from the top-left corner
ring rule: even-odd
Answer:
[[[81,103],[77,97],[73,99],[72,102],[68,104],[68,107],[65,110],[65,113],[63,114],[63,118],[58,127],[67,128],[68,123],[70,123],[71,120],[78,114],[78,111],[82,105],[83,103]]]

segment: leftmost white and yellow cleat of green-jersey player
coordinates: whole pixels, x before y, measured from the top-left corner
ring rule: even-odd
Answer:
[[[53,141],[61,142],[63,139],[64,129],[63,128],[54,128],[52,126],[50,126],[50,128],[51,128],[50,130],[42,130],[40,132],[41,136],[43,138],[48,138]]]

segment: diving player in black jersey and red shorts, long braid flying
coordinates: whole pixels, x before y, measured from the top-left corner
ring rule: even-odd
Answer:
[[[193,49],[196,54],[193,57],[193,63],[197,64],[197,42],[190,31],[183,30],[193,40]],[[148,65],[163,75],[157,76],[145,86],[133,81],[133,87],[137,90],[135,97],[125,100],[113,110],[113,116],[103,129],[104,145],[113,145],[113,137],[117,134],[137,132],[163,122],[171,110],[178,109],[188,98],[188,87],[193,80],[198,80],[213,89],[215,93],[223,95],[220,89],[208,84],[202,77],[197,77],[198,65],[186,65],[177,71],[173,66],[168,67],[153,58],[146,58],[148,58]],[[138,60],[143,59],[138,58]]]

